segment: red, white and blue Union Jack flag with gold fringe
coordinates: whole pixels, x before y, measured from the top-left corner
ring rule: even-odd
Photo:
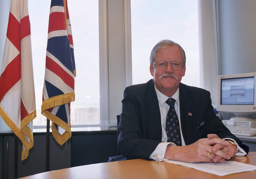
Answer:
[[[75,61],[66,0],[52,0],[46,49],[42,114],[62,145],[71,137],[70,102],[75,101]]]

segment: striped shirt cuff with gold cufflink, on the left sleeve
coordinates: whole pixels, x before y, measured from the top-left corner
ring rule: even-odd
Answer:
[[[172,142],[161,142],[157,145],[156,149],[154,152],[151,153],[149,156],[150,159],[156,160],[156,161],[163,161],[167,160],[164,158],[164,154],[166,153],[166,147],[167,145],[175,145]]]

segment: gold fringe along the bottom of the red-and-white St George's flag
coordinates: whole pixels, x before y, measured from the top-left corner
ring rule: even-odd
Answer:
[[[0,115],[4,119],[5,123],[11,128],[13,133],[21,140],[24,148],[21,153],[21,160],[24,160],[29,156],[29,150],[33,147],[33,132],[27,126],[33,119],[36,118],[36,110],[30,113],[21,121],[21,129],[19,129],[11,120],[11,117],[7,112],[0,106]],[[29,142],[27,142],[29,139]]]

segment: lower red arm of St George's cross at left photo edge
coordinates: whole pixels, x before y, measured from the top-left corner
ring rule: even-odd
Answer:
[[[20,54],[17,55],[5,68],[0,77],[0,101],[4,95],[16,84],[21,78],[21,61]]]

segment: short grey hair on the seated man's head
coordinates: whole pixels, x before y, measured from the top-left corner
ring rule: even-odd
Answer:
[[[155,45],[155,47],[152,49],[151,54],[150,54],[150,60],[149,60],[150,64],[153,66],[153,63],[155,61],[156,52],[158,50],[164,49],[164,48],[166,48],[168,46],[171,46],[171,45],[175,45],[175,46],[177,46],[180,49],[180,51],[182,53],[182,58],[183,58],[183,65],[185,65],[186,64],[186,54],[185,54],[185,51],[183,50],[183,48],[179,44],[177,44],[177,43],[175,43],[175,42],[173,42],[171,40],[161,40],[160,42],[158,42]]]

